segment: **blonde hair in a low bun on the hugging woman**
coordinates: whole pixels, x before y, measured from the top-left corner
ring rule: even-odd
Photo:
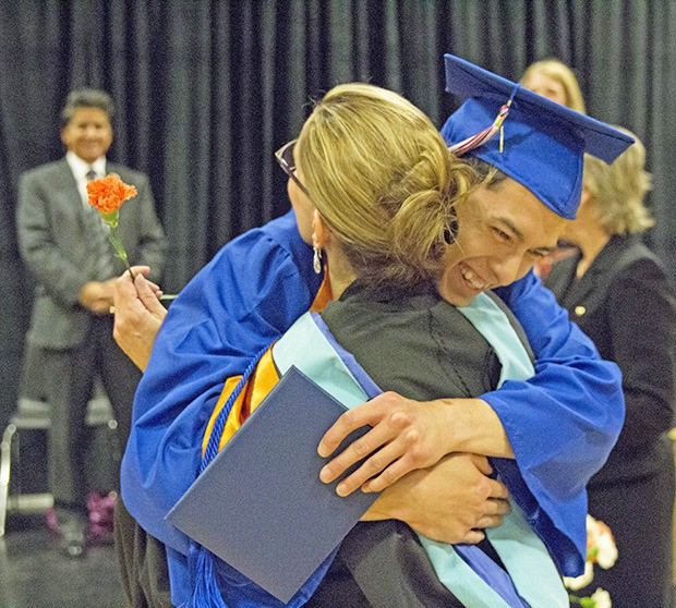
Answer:
[[[437,277],[474,172],[401,96],[373,85],[329,90],[297,154],[312,204],[358,277],[410,284]]]

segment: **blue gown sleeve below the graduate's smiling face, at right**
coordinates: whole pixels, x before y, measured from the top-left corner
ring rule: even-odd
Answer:
[[[624,422],[621,375],[615,363],[601,360],[532,271],[495,291],[521,323],[535,357],[532,378],[508,380],[481,396],[499,416],[516,455],[497,469],[515,479],[518,467],[536,501],[527,513],[531,524],[550,540],[562,571],[576,574],[587,552],[586,484],[607,459]],[[577,559],[566,550],[570,543]]]

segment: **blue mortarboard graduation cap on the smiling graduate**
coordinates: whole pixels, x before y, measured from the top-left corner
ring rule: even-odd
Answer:
[[[446,121],[449,146],[491,126],[511,99],[503,133],[467,154],[528,187],[556,215],[574,219],[580,204],[584,153],[613,162],[633,138],[452,54],[444,56],[446,90],[464,104]],[[502,147],[502,151],[500,151]]]

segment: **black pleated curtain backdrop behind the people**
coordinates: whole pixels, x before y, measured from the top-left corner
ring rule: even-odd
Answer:
[[[113,96],[109,156],[150,175],[173,292],[289,208],[273,151],[298,134],[311,98],[369,81],[440,126],[455,109],[444,52],[514,80],[558,57],[590,114],[643,139],[657,219],[647,240],[674,271],[675,32],[673,0],[0,0],[0,423],[14,409],[32,301],[17,180],[63,154],[71,88]]]

